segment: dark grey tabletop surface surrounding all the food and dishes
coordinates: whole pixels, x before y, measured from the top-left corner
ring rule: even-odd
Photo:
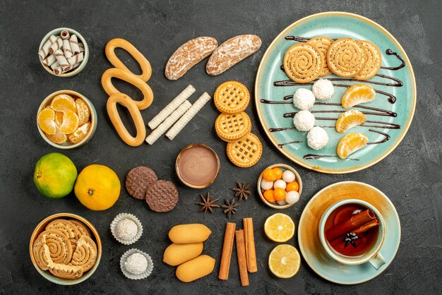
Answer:
[[[225,80],[239,80],[253,95],[256,70],[265,49],[287,25],[304,16],[322,11],[359,13],[383,25],[402,44],[412,61],[417,80],[417,109],[407,136],[396,150],[374,167],[347,175],[318,174],[293,164],[265,137],[256,110],[247,112],[253,132],[263,142],[263,157],[250,169],[229,163],[225,143],[213,128],[217,111],[206,106],[175,140],[167,138],[153,146],[125,145],[105,111],[107,95],[100,77],[111,65],[104,56],[105,44],[114,37],[132,42],[150,61],[153,76],[148,82],[155,94],[149,109],[142,112],[147,123],[162,107],[191,83],[195,100],[202,92],[213,94]],[[0,293],[2,294],[441,294],[442,292],[442,173],[441,173],[441,2],[434,1],[0,1],[0,116],[1,116],[1,212],[0,212]],[[88,65],[72,78],[49,75],[37,57],[37,48],[49,30],[68,27],[78,30],[90,47]],[[231,70],[217,77],[205,73],[205,61],[178,81],[169,81],[163,72],[169,56],[179,45],[198,36],[213,36],[218,42],[240,34],[256,34],[261,49]],[[128,55],[122,58],[131,63]],[[132,68],[136,68],[132,63]],[[119,83],[129,95],[137,90]],[[98,128],[89,143],[76,150],[61,151],[44,142],[37,132],[35,116],[40,102],[50,93],[76,90],[88,97],[98,114]],[[206,143],[220,156],[219,179],[201,191],[186,188],[174,172],[179,151],[190,143]],[[80,171],[100,163],[117,172],[124,181],[137,165],[152,167],[162,179],[177,184],[179,205],[167,214],[157,214],[143,201],[121,191],[109,210],[93,212],[83,207],[71,193],[61,200],[49,200],[38,193],[32,182],[35,162],[49,152],[63,152]],[[337,181],[363,181],[380,188],[393,201],[400,215],[402,240],[398,255],[388,269],[370,282],[340,286],[321,279],[303,261],[298,275],[277,279],[268,270],[268,254],[276,246],[265,238],[263,222],[275,213],[253,197],[242,202],[237,215],[227,219],[220,210],[210,215],[198,213],[199,193],[231,198],[229,188],[236,180],[256,182],[261,170],[273,163],[293,164],[304,182],[297,205],[285,213],[297,223],[306,203],[321,188]],[[61,287],[43,279],[30,262],[28,243],[40,220],[56,212],[73,212],[95,224],[102,236],[100,266],[88,281]],[[109,223],[119,212],[130,212],[141,219],[144,234],[133,246],[123,246],[109,232]],[[250,286],[241,288],[234,253],[230,279],[217,279],[225,222],[253,217],[256,229],[258,273],[251,274]],[[169,243],[167,231],[177,223],[202,222],[213,234],[205,242],[204,253],[217,263],[214,272],[191,284],[179,282],[174,267],[162,263],[162,252]],[[297,241],[289,243],[298,247]],[[155,263],[153,274],[141,281],[126,279],[119,270],[119,258],[129,248],[149,253]]]

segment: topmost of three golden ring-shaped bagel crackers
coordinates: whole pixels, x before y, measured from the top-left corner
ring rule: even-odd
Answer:
[[[123,62],[118,58],[117,54],[115,54],[115,48],[122,48],[129,52],[131,56],[138,62],[141,68],[141,74],[136,75],[132,73],[129,68],[127,68]],[[121,39],[115,38],[107,42],[106,48],[104,49],[107,59],[109,59],[110,63],[115,67],[119,68],[123,71],[131,73],[133,76],[137,76],[144,82],[148,82],[150,76],[152,75],[152,67],[150,66],[149,61],[138,51],[130,42]]]

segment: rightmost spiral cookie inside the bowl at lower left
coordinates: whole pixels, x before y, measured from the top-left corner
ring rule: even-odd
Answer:
[[[83,272],[90,270],[97,261],[97,244],[88,236],[81,236],[77,241],[76,251],[72,255],[71,265],[80,266]]]

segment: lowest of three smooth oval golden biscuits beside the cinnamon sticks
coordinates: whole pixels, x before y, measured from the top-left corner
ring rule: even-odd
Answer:
[[[200,255],[179,265],[176,274],[181,282],[188,283],[209,275],[213,272],[213,267],[215,267],[215,259],[208,255]]]

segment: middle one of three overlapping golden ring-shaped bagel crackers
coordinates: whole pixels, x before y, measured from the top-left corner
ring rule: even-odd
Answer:
[[[143,92],[143,100],[133,101],[138,109],[147,109],[150,104],[152,104],[153,92],[149,85],[137,76],[133,76],[131,73],[121,70],[121,68],[108,68],[104,71],[103,76],[101,76],[101,84],[108,95],[119,93],[119,90],[112,84],[112,78],[124,80]]]

